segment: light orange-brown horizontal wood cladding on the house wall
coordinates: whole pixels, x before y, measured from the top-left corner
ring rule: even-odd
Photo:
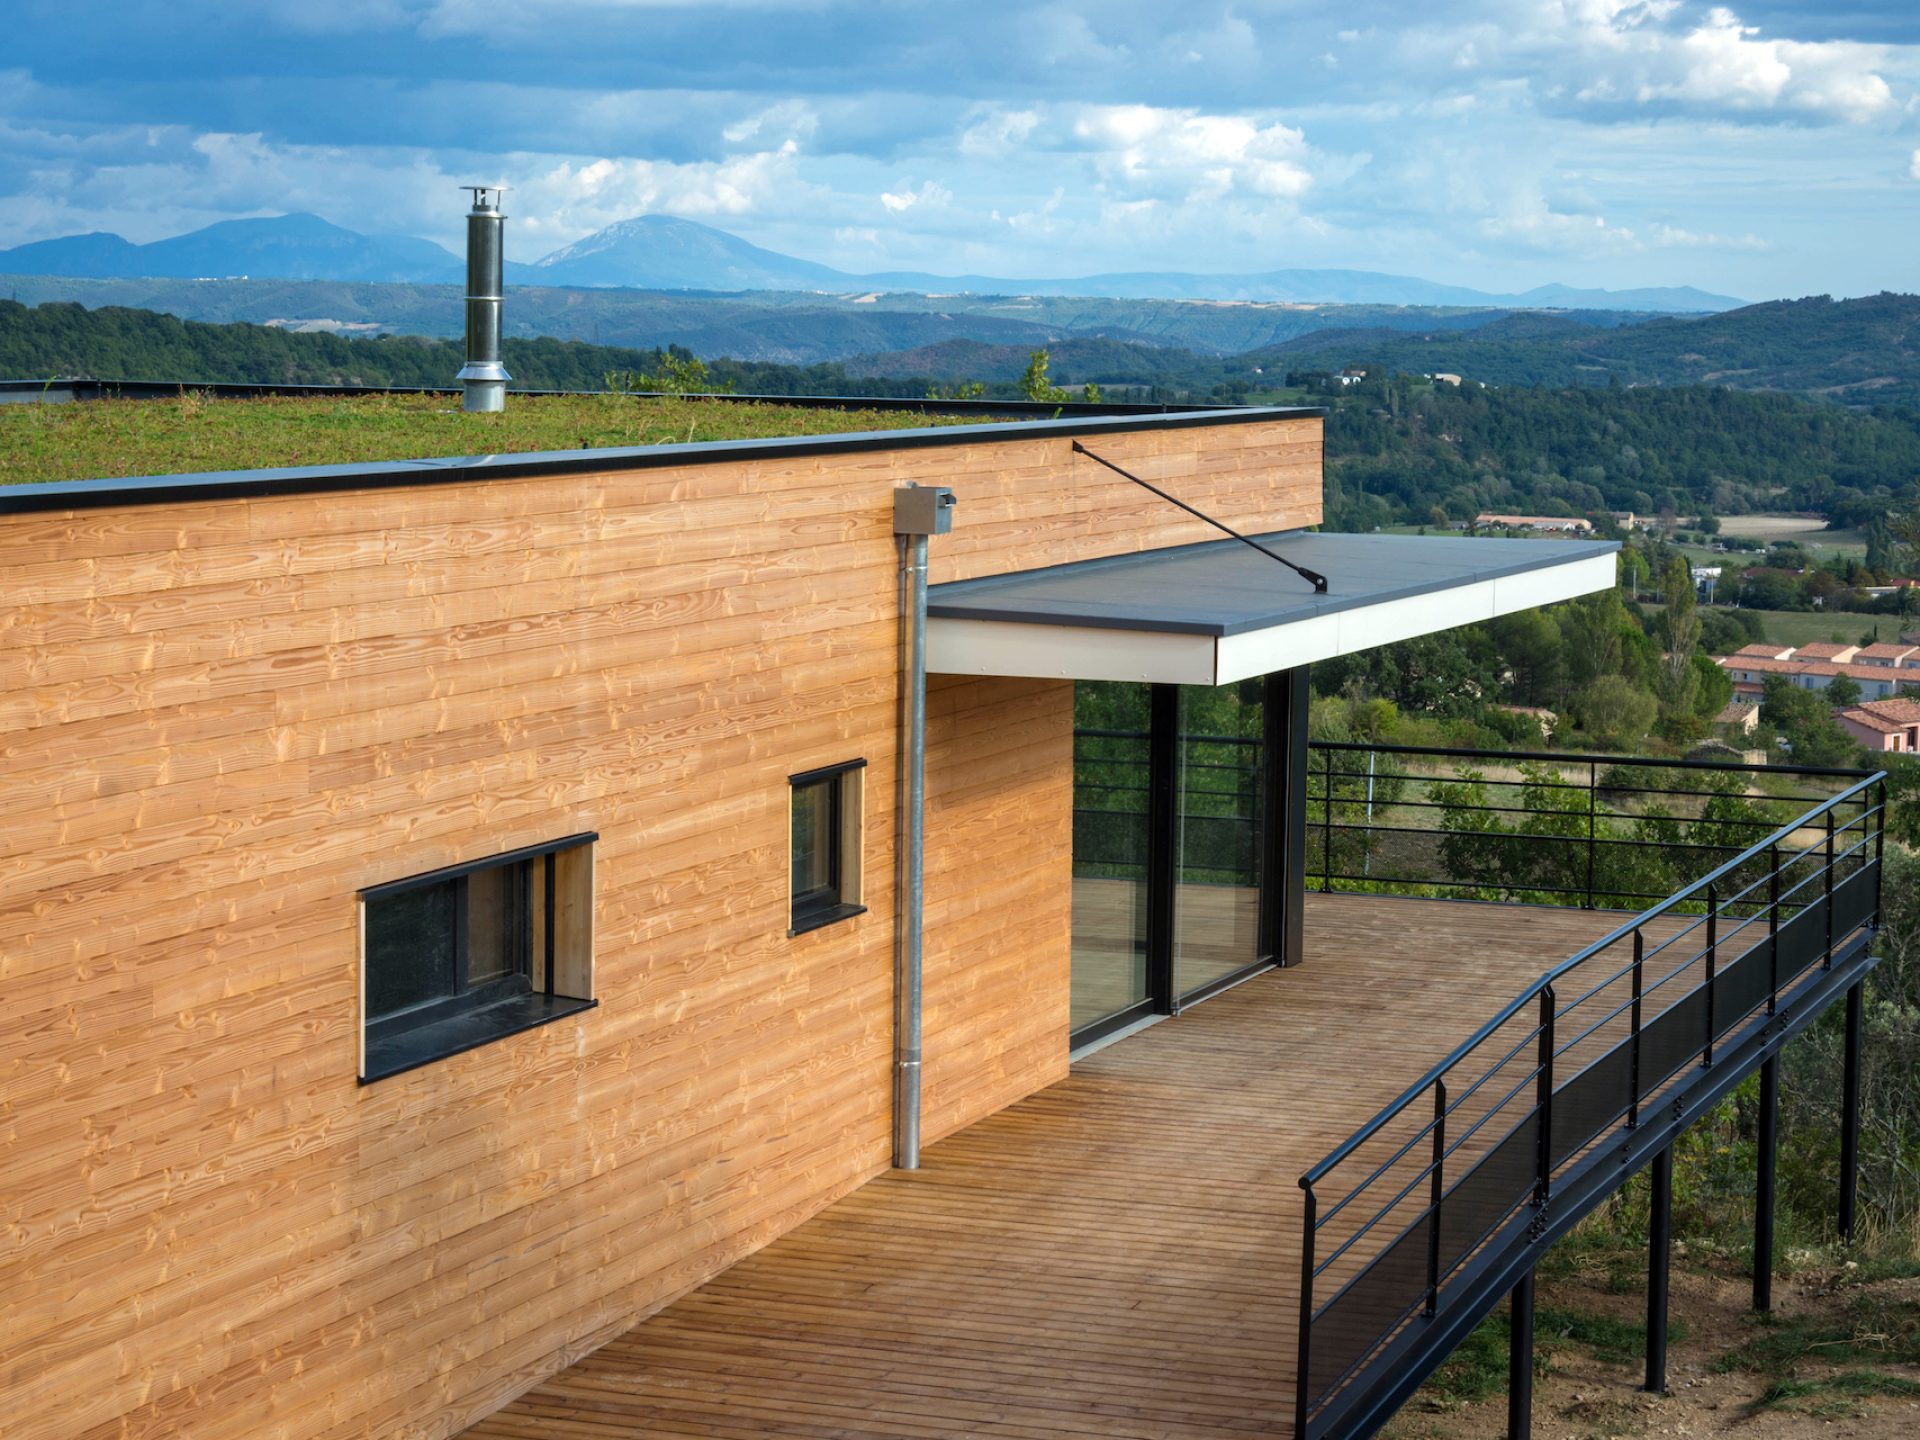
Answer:
[[[1098,445],[1319,518],[1311,419]],[[935,580],[1212,538],[1048,438],[0,515],[10,1440],[451,1434],[885,1167],[906,480]],[[929,1135],[1062,1073],[1069,732],[929,697]],[[586,829],[599,1008],[357,1085],[357,891]]]

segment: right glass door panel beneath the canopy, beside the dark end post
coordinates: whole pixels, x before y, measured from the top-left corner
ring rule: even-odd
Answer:
[[[1261,958],[1261,697],[1258,680],[1181,687],[1173,895],[1173,993],[1181,996]]]

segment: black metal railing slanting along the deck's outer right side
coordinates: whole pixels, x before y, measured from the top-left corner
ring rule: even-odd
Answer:
[[[1528,985],[1300,1177],[1300,1440],[1476,1252],[1544,1225],[1601,1140],[1676,1123],[1657,1106],[1690,1068],[1816,989],[1880,912],[1884,812],[1876,774],[1770,829]]]

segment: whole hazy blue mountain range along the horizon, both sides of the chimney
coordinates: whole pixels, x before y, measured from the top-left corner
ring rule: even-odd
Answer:
[[[509,225],[509,244],[513,230]],[[132,244],[92,232],[0,250],[0,275],[84,278],[282,278],[457,284],[461,259],[449,250],[396,234],[361,234],[319,215],[221,221],[202,230]],[[624,290],[801,290],[914,292],[929,296],[1056,296],[1198,300],[1321,305],[1463,305],[1501,309],[1596,309],[1711,313],[1745,303],[1692,286],[1580,290],[1540,286],[1488,294],[1405,275],[1281,269],[1250,275],[1187,271],[1110,273],[1073,278],[851,275],[762,250],[710,225],[672,215],[618,221],[532,263],[509,263],[515,284]]]

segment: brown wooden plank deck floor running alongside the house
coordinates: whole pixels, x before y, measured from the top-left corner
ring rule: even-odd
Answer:
[[[1304,966],[1075,1064],[467,1434],[1284,1432],[1300,1173],[1617,920],[1309,897]]]

